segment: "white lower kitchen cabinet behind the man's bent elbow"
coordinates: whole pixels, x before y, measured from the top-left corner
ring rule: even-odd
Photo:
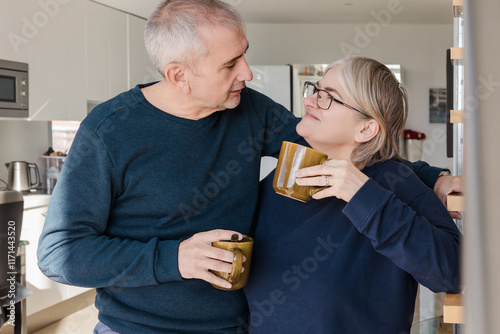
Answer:
[[[26,246],[26,282],[32,292],[26,302],[27,316],[90,290],[54,282],[38,269],[36,251],[49,200],[49,195],[25,196],[21,240],[29,242]]]

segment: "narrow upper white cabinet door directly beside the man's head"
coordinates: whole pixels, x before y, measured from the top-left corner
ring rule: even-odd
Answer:
[[[151,63],[144,45],[146,20],[128,14],[129,23],[129,88],[140,83],[161,80],[161,75]]]

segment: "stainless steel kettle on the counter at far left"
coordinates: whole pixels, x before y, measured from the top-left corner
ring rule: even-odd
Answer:
[[[9,170],[7,186],[10,190],[28,191],[40,184],[40,172],[35,163],[26,161],[12,161],[6,163]]]

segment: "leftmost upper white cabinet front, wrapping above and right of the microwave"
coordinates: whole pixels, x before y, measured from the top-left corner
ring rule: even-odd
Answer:
[[[31,119],[69,119],[84,106],[83,9],[84,0],[0,3],[0,58],[29,64]]]

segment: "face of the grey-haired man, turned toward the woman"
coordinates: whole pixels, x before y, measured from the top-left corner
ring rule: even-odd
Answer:
[[[200,34],[209,53],[195,64],[191,97],[204,112],[235,108],[245,81],[253,79],[245,60],[248,41],[226,27],[202,28]]]

